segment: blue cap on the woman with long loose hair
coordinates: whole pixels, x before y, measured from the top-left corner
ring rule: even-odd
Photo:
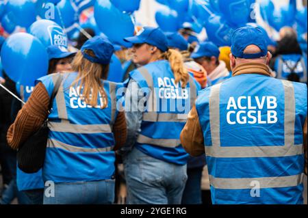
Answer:
[[[85,50],[93,51],[95,57],[85,53]],[[84,43],[81,47],[81,53],[90,62],[97,64],[110,64],[112,54],[114,53],[114,46],[107,38],[94,36]]]

